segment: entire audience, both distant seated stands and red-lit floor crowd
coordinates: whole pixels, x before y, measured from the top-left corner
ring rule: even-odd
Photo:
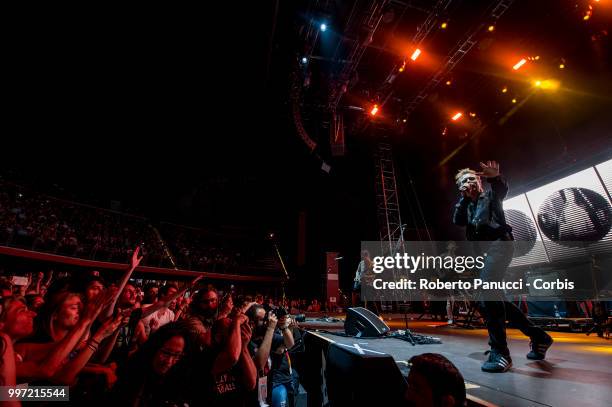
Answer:
[[[132,278],[141,255],[162,263],[166,244],[186,269],[231,271],[259,258],[253,247],[230,255],[196,229],[161,229],[163,239],[143,218],[2,185],[0,245],[130,266],[116,281],[0,270],[0,386],[69,386],[75,405],[293,405],[293,356],[304,344],[292,316],[324,303],[218,291],[201,277],[141,285]],[[452,363],[433,354],[410,362],[409,405],[463,405]]]

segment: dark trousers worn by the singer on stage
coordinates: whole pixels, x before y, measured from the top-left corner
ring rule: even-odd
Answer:
[[[508,265],[512,261],[513,252],[511,241],[500,239],[487,242],[487,257],[480,278],[484,281],[503,281]],[[498,300],[491,301],[491,296]],[[487,323],[491,349],[506,356],[510,354],[506,341],[506,321],[535,341],[543,341],[548,336],[543,329],[533,325],[516,305],[506,301],[503,292],[489,292],[483,298],[486,299],[479,301],[479,305]]]

